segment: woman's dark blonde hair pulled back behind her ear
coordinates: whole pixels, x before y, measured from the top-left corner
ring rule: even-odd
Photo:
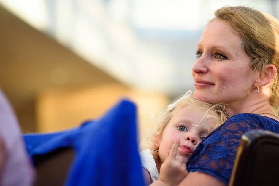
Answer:
[[[244,6],[220,8],[215,11],[213,20],[216,18],[225,20],[240,37],[255,72],[261,72],[268,64],[276,66],[269,98],[270,105],[276,107],[279,103],[279,21],[272,15]]]

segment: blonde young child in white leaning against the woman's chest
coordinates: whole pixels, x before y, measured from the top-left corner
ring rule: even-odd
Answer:
[[[192,97],[188,91],[161,114],[149,142],[140,153],[147,185],[178,185],[188,174],[186,162],[197,145],[226,121],[225,105],[212,105]],[[159,174],[160,173],[160,174]]]

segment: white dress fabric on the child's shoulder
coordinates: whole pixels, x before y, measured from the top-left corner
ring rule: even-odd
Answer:
[[[156,167],[155,160],[153,159],[153,156],[151,154],[151,150],[144,150],[139,153],[139,156],[142,167],[149,172],[152,181],[155,182],[157,179],[159,179],[159,172]]]

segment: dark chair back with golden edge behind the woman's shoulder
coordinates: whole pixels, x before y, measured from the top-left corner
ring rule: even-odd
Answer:
[[[279,135],[252,130],[242,136],[229,186],[279,185]]]

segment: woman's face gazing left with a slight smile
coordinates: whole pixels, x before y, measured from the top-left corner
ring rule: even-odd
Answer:
[[[256,73],[241,39],[224,20],[207,25],[197,46],[197,60],[192,67],[194,98],[205,102],[242,102],[254,86]]]

